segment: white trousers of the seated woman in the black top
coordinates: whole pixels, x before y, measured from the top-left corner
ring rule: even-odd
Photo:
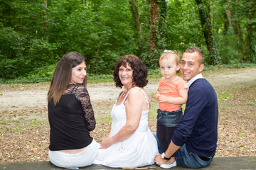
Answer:
[[[86,149],[78,154],[68,154],[59,151],[49,150],[50,162],[55,166],[65,169],[79,169],[79,167],[90,166],[97,156],[97,142],[92,140],[92,143]]]

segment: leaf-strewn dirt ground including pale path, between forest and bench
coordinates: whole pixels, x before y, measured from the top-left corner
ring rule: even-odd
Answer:
[[[203,72],[218,95],[218,148],[215,157],[256,157],[256,68]],[[88,77],[90,79],[90,77]],[[156,131],[159,79],[149,79],[149,127]],[[49,82],[0,85],[0,162],[48,161],[49,125],[46,94]],[[100,142],[110,130],[114,83],[88,84]]]

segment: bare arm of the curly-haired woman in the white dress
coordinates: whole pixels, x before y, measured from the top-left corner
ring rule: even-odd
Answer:
[[[139,89],[132,89],[125,101],[127,123],[112,137],[102,140],[100,149],[106,149],[111,145],[129,139],[139,127],[142,109],[145,105],[145,98]],[[147,107],[147,106],[146,106]]]

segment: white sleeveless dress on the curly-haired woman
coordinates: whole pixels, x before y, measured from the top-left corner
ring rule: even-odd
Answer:
[[[140,90],[142,91],[142,89]],[[144,94],[144,91],[142,91],[142,93]],[[129,92],[127,95],[128,94]],[[145,94],[144,96],[146,98]],[[127,96],[125,96],[124,101],[126,98]],[[112,108],[111,137],[117,134],[127,121],[124,101],[118,106],[114,104]],[[148,98],[146,98],[146,101],[149,106]],[[107,149],[99,149],[99,154],[94,164],[102,164],[114,168],[135,168],[154,164],[154,158],[159,154],[159,151],[156,139],[151,130],[149,130],[148,115],[149,110],[142,111],[139,127],[129,139],[111,145]]]

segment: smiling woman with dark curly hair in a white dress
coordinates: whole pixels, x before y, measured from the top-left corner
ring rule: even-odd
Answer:
[[[102,140],[94,164],[114,168],[135,168],[154,164],[159,154],[157,142],[149,130],[147,69],[139,57],[124,55],[114,69],[114,81],[122,91],[114,104],[110,134]]]

